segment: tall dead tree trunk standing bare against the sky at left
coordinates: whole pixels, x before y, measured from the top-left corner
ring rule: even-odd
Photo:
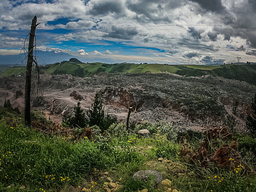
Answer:
[[[29,33],[29,43],[28,43],[28,62],[26,70],[26,85],[25,85],[25,110],[24,118],[25,124],[30,126],[31,116],[30,116],[30,92],[31,92],[31,76],[32,76],[32,66],[34,62],[33,50],[34,50],[34,39],[36,33],[36,15],[32,20],[31,29]]]

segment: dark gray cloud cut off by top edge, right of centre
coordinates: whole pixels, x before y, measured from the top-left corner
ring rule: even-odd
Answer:
[[[198,3],[203,9],[212,12],[221,12],[225,9],[222,5],[221,0],[190,0]]]

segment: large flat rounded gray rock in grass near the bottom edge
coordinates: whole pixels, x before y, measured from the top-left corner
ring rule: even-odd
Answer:
[[[148,176],[153,175],[155,176],[154,180],[155,183],[159,183],[162,180],[162,175],[160,172],[157,172],[156,170],[145,170],[145,171],[138,171],[134,173],[133,179],[134,180],[141,180],[141,181],[147,181]]]

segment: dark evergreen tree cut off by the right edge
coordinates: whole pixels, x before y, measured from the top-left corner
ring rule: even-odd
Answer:
[[[256,93],[252,99],[252,115],[247,114],[246,125],[251,132],[251,136],[256,138]]]

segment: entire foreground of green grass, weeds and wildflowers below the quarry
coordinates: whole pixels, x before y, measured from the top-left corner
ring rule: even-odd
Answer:
[[[155,186],[150,180],[153,178],[146,183],[132,179],[135,172],[147,169],[160,172],[163,179],[172,181],[170,188],[178,191],[256,190],[255,158],[250,148],[240,145],[242,161],[237,152],[230,153],[227,166],[214,162],[204,166],[205,160],[200,158],[191,161],[191,154],[200,154],[199,145],[205,140],[200,132],[177,133],[172,124],[159,122],[135,125],[132,131],[115,123],[103,134],[97,132],[97,126],[94,134],[91,128],[80,134],[55,125],[59,132],[46,134],[25,127],[23,122],[21,117],[0,122],[1,191],[104,191],[108,177],[119,180],[119,191],[166,191],[161,185]],[[134,134],[140,129],[148,129],[150,137]],[[245,137],[249,136],[236,134],[243,144]],[[234,144],[227,138],[216,141],[211,145],[213,151],[222,144]]]

